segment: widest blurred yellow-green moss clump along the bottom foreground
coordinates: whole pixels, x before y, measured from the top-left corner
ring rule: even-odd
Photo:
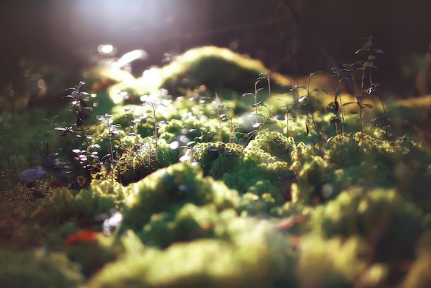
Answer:
[[[236,217],[225,226],[230,240],[200,239],[163,251],[144,248],[106,265],[88,286],[297,286],[293,249],[268,221]]]

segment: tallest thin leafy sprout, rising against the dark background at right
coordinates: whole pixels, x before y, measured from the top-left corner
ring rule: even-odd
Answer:
[[[373,82],[372,80],[372,69],[377,68],[375,65],[376,56],[372,54],[372,52],[375,52],[377,54],[383,54],[383,50],[372,50],[372,37],[366,37],[359,40],[366,40],[363,47],[355,54],[359,54],[359,52],[367,52],[368,57],[366,61],[357,61],[355,63],[351,64],[344,64],[344,71],[346,71],[348,74],[350,74],[350,78],[352,79],[354,88],[355,88],[355,97],[357,99],[356,102],[347,102],[344,103],[343,106],[350,105],[350,104],[356,104],[359,107],[359,124],[361,129],[361,135],[364,134],[364,122],[363,122],[363,114],[362,110],[366,108],[372,108],[371,104],[364,103],[364,98],[367,95],[370,95],[372,92],[375,91],[375,88],[379,85],[378,83]],[[359,76],[357,77],[356,74],[359,71]],[[367,77],[368,76],[368,77]],[[369,82],[366,83],[367,79],[369,79]],[[359,81],[360,90],[357,90],[356,82]],[[368,85],[368,88],[366,88],[366,85]],[[381,102],[383,105],[383,102]],[[384,105],[383,105],[384,107]],[[386,113],[385,113],[386,114]]]

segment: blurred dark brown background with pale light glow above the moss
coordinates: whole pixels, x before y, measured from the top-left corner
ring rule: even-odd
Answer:
[[[149,54],[134,63],[134,74],[161,65],[165,52],[218,45],[303,76],[359,60],[358,39],[372,35],[386,52],[378,72],[385,91],[431,92],[427,0],[14,0],[2,1],[0,11],[2,88],[19,83],[25,65],[50,67],[57,72],[42,75],[45,84],[70,87],[105,43],[118,55]]]

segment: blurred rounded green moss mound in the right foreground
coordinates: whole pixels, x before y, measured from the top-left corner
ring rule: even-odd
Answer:
[[[350,189],[316,208],[313,227],[326,237],[362,235],[375,260],[385,261],[412,257],[421,217],[421,210],[394,190]]]

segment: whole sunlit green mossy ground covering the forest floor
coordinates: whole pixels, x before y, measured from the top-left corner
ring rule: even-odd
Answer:
[[[265,69],[214,51],[160,68],[171,90],[178,77],[194,82],[182,96],[142,97],[155,110],[136,97],[115,104],[114,88],[138,93],[145,79],[100,92],[86,143],[54,130],[69,107],[1,114],[0,286],[429,287],[430,107],[419,104],[429,100],[389,101],[387,138],[370,121],[379,101],[369,100],[364,134],[346,114],[337,135],[333,96],[313,94],[319,138],[282,85],[263,86],[257,108],[253,97],[216,97],[224,85],[253,91]],[[48,178],[20,183],[35,165]]]

